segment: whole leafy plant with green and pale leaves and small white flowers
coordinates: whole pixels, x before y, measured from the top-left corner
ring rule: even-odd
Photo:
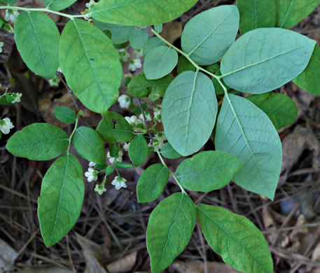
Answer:
[[[83,169],[70,153],[71,144],[90,161],[85,172],[89,182],[104,174],[95,187],[99,194],[106,191],[106,176],[139,166],[155,152],[160,162],[141,175],[138,201],[160,197],[170,175],[181,192],[162,200],[149,218],[146,242],[152,272],[167,268],[186,248],[196,221],[211,248],[235,269],[273,272],[267,241],[251,221],[221,207],[195,206],[186,190],[209,192],[234,181],[273,200],[282,160],[277,130],[294,123],[297,109],[289,97],[271,91],[293,80],[320,94],[319,46],[288,30],[320,0],[237,0],[237,6],[205,10],[184,27],[181,49],[161,36],[162,23],[178,18],[197,0],[90,0],[80,15],[59,11],[75,0],[43,1],[47,8],[22,8],[12,6],[15,0],[3,0],[0,9],[6,17],[0,26],[13,31],[8,20],[15,22],[15,42],[30,70],[50,79],[63,74],[69,92],[102,115],[94,130],[78,127],[82,111],[57,108],[57,119],[74,124],[69,137],[58,127],[34,123],[15,132],[6,145],[13,155],[29,160],[61,155],[46,172],[39,197],[46,246],[60,241],[81,214]],[[62,34],[47,13],[70,19]],[[235,41],[238,28],[241,36]],[[128,41],[136,50],[131,71],[141,68],[144,56],[144,73],[133,78],[124,77],[122,69],[130,58]],[[127,92],[120,95],[123,78]],[[140,116],[109,111],[117,101]],[[155,130],[160,123],[164,132]],[[197,153],[209,139],[216,151]],[[122,144],[132,165],[122,162]],[[175,173],[163,159],[189,155],[193,157],[183,160]],[[118,190],[127,187],[125,182],[118,173],[112,184]]]

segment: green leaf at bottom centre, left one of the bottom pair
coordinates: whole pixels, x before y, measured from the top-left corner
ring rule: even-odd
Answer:
[[[195,205],[183,193],[174,193],[153,210],[146,230],[151,270],[160,273],[173,262],[195,229]]]

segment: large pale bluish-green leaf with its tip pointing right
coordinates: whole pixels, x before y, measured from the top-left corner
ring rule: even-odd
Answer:
[[[223,56],[223,80],[241,92],[272,91],[305,70],[315,43],[287,29],[251,30],[237,39]]]

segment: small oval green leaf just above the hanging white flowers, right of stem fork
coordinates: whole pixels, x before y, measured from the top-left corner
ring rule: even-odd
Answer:
[[[104,141],[92,128],[79,127],[72,138],[72,144],[82,158],[99,164],[106,163]]]

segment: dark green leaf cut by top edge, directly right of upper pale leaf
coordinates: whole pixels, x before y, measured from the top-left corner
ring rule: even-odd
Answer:
[[[260,27],[274,27],[276,6],[274,0],[237,0],[240,13],[240,32],[245,34]]]

